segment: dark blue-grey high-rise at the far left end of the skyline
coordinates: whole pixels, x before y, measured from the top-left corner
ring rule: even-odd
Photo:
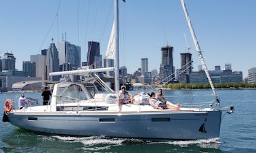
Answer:
[[[2,71],[15,70],[16,58],[12,53],[5,53],[2,59]]]

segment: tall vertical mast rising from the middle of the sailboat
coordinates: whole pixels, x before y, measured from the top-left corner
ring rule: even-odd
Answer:
[[[119,92],[119,1],[114,0],[114,27],[116,39],[116,57],[114,58],[114,91]]]

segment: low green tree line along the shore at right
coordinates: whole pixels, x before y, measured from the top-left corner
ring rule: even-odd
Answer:
[[[214,84],[215,88],[256,88],[256,83],[217,83]],[[208,89],[211,88],[210,84],[184,84],[184,83],[178,83],[178,84],[167,84],[163,86],[163,88],[171,88],[173,90],[179,90],[179,89]]]

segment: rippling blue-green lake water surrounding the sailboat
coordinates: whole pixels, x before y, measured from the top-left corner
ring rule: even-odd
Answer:
[[[135,91],[132,93],[135,94]],[[179,95],[190,95],[186,99],[197,100],[192,95],[211,94],[211,90],[175,90],[163,93],[167,100],[183,104]],[[26,93],[26,97],[39,98],[41,102],[40,94]],[[219,139],[151,142],[93,136],[64,137],[40,135],[0,122],[0,152],[256,152],[256,90],[217,90],[217,94],[221,106],[235,107],[233,114],[223,113]],[[6,98],[12,98],[17,103],[19,96],[20,94],[13,93],[0,94],[0,113],[3,115]]]

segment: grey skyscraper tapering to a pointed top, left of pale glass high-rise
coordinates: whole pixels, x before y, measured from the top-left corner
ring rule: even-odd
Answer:
[[[60,65],[59,65],[59,54],[58,54],[57,48],[54,42],[52,42],[46,53],[47,80],[51,80],[51,81],[60,80],[60,76],[51,76],[51,77],[49,76],[49,73],[54,71],[60,71]]]

